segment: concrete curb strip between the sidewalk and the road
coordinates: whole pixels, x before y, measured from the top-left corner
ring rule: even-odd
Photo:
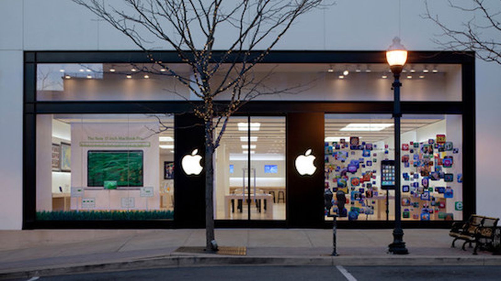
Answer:
[[[357,265],[357,266],[405,266],[405,265],[501,265],[501,258],[494,256],[388,256],[370,258],[357,256],[161,256],[139,260],[112,261],[95,264],[67,264],[65,266],[41,266],[0,271],[0,279],[31,278],[33,276],[63,275],[75,273],[150,269],[159,267],[197,267],[224,265]]]

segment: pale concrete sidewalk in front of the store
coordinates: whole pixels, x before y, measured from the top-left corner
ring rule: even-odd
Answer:
[[[391,229],[339,229],[332,257],[331,229],[216,229],[219,246],[244,246],[246,255],[175,251],[203,246],[204,229],[0,230],[0,278],[69,272],[222,264],[275,265],[501,265],[501,256],[460,241],[448,229],[404,229],[408,255],[386,253]]]

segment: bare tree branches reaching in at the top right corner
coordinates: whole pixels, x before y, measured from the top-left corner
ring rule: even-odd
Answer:
[[[425,1],[423,18],[433,21],[443,33],[433,41],[446,49],[474,51],[476,57],[501,64],[501,1],[471,0],[471,4],[458,5],[448,0],[451,8],[468,15],[460,27],[452,28],[438,14],[432,14]]]

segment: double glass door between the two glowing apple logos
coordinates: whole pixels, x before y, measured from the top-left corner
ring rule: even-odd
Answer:
[[[285,130],[284,116],[230,117],[215,152],[216,219],[285,219]]]

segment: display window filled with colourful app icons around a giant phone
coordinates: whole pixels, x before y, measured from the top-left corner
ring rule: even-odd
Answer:
[[[325,115],[325,193],[346,197],[344,209],[326,209],[326,219],[330,212],[340,220],[393,220],[395,203],[403,220],[462,219],[461,115],[404,114],[400,138],[402,147],[394,147],[391,115]],[[397,163],[394,149],[401,149]]]

